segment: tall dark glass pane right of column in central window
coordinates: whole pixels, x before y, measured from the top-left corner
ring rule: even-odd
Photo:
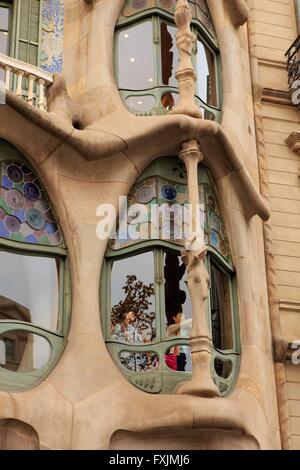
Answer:
[[[229,277],[211,263],[211,321],[213,344],[226,351],[233,348]]]

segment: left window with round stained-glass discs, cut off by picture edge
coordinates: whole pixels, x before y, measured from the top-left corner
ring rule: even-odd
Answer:
[[[0,182],[0,390],[19,390],[45,377],[65,346],[68,262],[43,186],[4,141]]]

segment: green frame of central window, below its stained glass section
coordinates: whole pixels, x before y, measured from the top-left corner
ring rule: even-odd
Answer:
[[[155,286],[155,310],[156,310],[156,337],[155,340],[147,344],[132,344],[111,338],[111,273],[113,263],[134,257],[143,253],[152,252],[154,255],[154,286]],[[149,393],[170,394],[176,391],[176,388],[191,378],[189,372],[171,371],[165,363],[165,355],[175,346],[189,346],[189,339],[184,337],[168,337],[166,335],[165,323],[165,287],[162,279],[164,278],[164,254],[171,252],[180,256],[180,248],[167,242],[146,242],[139,246],[132,246],[118,252],[108,252],[104,261],[101,276],[101,299],[102,299],[102,326],[105,341],[108,350],[115,363],[120,368],[122,374],[134,385],[138,386]],[[206,258],[206,266],[211,278],[211,263],[215,263],[228,276],[230,289],[230,323],[232,327],[232,347],[230,349],[221,350],[213,347],[211,372],[212,377],[218,386],[220,396],[228,395],[233,389],[238,370],[240,357],[240,344],[238,336],[238,319],[237,319],[237,300],[235,294],[235,274],[234,271],[225,265],[221,257],[216,254],[212,248],[208,248]],[[210,296],[207,302],[207,316],[212,332],[212,318],[210,310]],[[122,366],[119,354],[122,351],[131,353],[152,352],[159,357],[159,366],[155,371],[149,371],[145,374],[139,372],[131,372]],[[218,375],[215,363],[226,364],[231,362],[231,373],[229,376],[221,377]]]

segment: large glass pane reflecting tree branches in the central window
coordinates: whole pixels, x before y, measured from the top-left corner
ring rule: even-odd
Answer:
[[[111,274],[111,337],[150,343],[155,332],[153,253],[116,261]]]

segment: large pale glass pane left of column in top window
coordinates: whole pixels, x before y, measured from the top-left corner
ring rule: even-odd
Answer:
[[[156,86],[153,67],[152,22],[123,30],[118,35],[119,88],[144,90]]]

